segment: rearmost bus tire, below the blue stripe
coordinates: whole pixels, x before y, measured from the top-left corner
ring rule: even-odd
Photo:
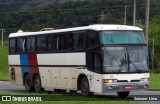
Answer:
[[[31,78],[30,78],[30,75],[27,74],[25,77],[24,77],[24,86],[25,86],[25,89],[27,92],[32,92],[34,91],[34,88],[31,84]]]

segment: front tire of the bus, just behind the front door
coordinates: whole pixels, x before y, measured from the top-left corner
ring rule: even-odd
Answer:
[[[81,88],[82,95],[84,96],[90,95],[89,82],[88,82],[87,77],[82,78],[80,88]]]

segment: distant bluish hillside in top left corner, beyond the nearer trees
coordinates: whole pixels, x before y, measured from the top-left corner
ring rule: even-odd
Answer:
[[[31,8],[43,8],[55,3],[76,0],[0,0],[0,12],[26,11]],[[78,0],[84,1],[84,0]]]

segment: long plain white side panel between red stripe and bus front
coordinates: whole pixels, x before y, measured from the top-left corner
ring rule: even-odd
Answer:
[[[39,65],[86,65],[85,52],[37,54]]]

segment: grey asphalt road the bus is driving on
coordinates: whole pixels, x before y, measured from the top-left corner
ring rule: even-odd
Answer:
[[[46,92],[47,91],[50,91],[52,92],[53,90],[52,89],[46,89],[45,90]],[[0,92],[25,92],[25,87],[24,86],[19,86],[19,85],[14,85],[14,84],[11,84],[10,82],[7,82],[7,81],[0,81]],[[105,94],[99,94],[99,93],[96,93],[95,95],[102,95],[102,96],[107,96],[107,97],[115,97],[115,98],[118,98],[118,95],[116,92],[114,93],[105,93]],[[133,99],[134,96],[143,96],[143,95],[147,95],[147,96],[155,96],[155,95],[159,95],[159,98],[160,98],[160,91],[131,91],[129,96],[128,96],[128,99]],[[150,102],[143,102],[144,104],[160,104],[160,101],[150,101]]]

